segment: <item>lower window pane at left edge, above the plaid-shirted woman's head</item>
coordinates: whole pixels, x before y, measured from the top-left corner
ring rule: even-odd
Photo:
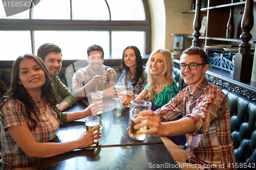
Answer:
[[[30,31],[0,31],[0,60],[32,54]]]

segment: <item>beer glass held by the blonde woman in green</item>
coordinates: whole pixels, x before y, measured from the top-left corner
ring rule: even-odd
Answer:
[[[133,86],[132,85],[125,85],[121,86],[121,93],[122,93],[122,104],[123,107],[130,107],[131,101],[133,100]]]

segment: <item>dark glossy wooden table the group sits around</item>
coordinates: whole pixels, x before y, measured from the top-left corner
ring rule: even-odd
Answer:
[[[88,103],[76,102],[69,110],[87,106]],[[159,137],[147,135],[143,141],[129,137],[126,131],[130,126],[129,108],[109,100],[108,105],[104,103],[104,111],[99,115],[101,138],[98,145],[45,158],[41,169],[179,169]],[[83,118],[60,125],[56,139],[60,142],[75,140],[84,131]]]

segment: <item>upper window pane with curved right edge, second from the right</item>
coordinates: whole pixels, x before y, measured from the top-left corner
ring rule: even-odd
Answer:
[[[109,20],[109,9],[104,0],[72,1],[72,19]]]

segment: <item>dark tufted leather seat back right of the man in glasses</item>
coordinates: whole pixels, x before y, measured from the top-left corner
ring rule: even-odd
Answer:
[[[256,163],[256,102],[223,88],[230,107],[231,136],[238,163]],[[256,169],[256,168],[255,168]]]

